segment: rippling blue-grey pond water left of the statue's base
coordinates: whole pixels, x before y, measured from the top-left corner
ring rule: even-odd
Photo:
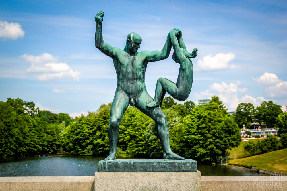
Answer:
[[[0,176],[94,176],[105,157],[5,157]]]

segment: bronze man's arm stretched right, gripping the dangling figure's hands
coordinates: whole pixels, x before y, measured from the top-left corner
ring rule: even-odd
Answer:
[[[170,41],[170,36],[168,34],[166,42],[162,50],[161,51],[156,50],[156,51],[149,52],[149,54],[146,57],[146,61],[155,62],[158,60],[164,60],[168,58],[170,50],[171,50],[171,41]]]

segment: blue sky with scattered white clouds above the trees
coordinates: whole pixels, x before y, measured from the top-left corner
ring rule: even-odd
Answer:
[[[186,101],[218,96],[235,111],[272,100],[287,105],[287,1],[0,1],[0,101],[33,101],[40,110],[71,117],[113,101],[113,60],[94,46],[95,15],[104,12],[103,39],[123,49],[127,34],[138,51],[161,50],[179,28],[194,78]],[[179,64],[148,63],[146,87],[177,81]],[[166,96],[169,96],[166,94]],[[184,103],[183,101],[177,101]]]

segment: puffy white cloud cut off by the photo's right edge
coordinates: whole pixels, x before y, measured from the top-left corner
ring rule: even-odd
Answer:
[[[265,72],[259,78],[253,78],[257,83],[264,87],[263,94],[268,98],[286,98],[287,82],[280,80],[276,74]]]

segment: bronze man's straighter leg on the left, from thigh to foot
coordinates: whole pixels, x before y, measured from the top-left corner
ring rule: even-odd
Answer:
[[[117,143],[119,138],[119,126],[123,114],[129,106],[129,97],[121,91],[115,93],[115,97],[110,108],[110,125],[108,127],[108,141],[110,144],[110,154],[105,160],[114,160],[117,153]]]

